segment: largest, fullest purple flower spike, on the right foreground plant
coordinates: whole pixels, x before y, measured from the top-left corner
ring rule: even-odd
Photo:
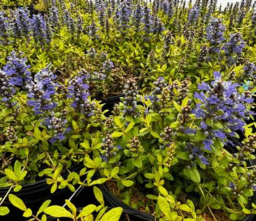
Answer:
[[[192,113],[202,119],[199,129],[206,135],[203,144],[207,150],[211,149],[213,138],[225,142],[227,136],[234,136],[232,132],[243,129],[244,117],[253,114],[246,108],[246,104],[253,102],[253,99],[240,94],[236,87],[237,83],[223,81],[219,72],[214,72],[214,81],[210,84],[198,85],[201,92],[195,92],[194,96],[200,103],[196,104]],[[210,126],[207,124],[209,120],[212,121]],[[219,128],[214,128],[216,124]]]

